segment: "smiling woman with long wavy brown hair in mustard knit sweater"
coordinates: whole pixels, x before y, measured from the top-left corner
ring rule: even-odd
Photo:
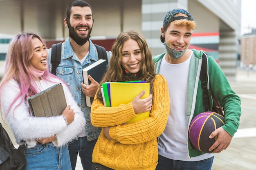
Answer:
[[[141,80],[150,83],[150,96],[144,91],[128,104],[104,107],[99,89],[91,107],[94,126],[103,127],[92,154],[92,170],[155,170],[158,161],[157,137],[164,131],[170,103],[163,76],[155,74],[146,40],[136,31],[120,33],[112,46],[110,65],[100,83]],[[144,120],[125,123],[137,113],[150,111]]]

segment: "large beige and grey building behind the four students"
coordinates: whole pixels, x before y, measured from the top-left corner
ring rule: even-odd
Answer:
[[[48,42],[47,47],[56,41],[64,41],[69,32],[63,19],[70,2],[72,0],[0,0],[0,33],[15,35],[22,30],[40,32]],[[133,29],[146,38],[153,56],[165,50],[160,41],[164,15],[174,8],[188,10],[198,26],[193,31],[190,48],[205,50],[218,61],[227,78],[236,78],[241,0],[86,2],[93,10],[93,42],[110,50],[120,32]]]

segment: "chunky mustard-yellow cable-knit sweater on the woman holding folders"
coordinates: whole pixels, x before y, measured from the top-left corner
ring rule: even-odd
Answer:
[[[92,153],[92,162],[115,170],[155,170],[158,162],[157,137],[164,131],[170,102],[165,78],[157,74],[150,117],[123,124],[136,114],[132,103],[118,107],[104,107],[94,100],[91,107],[92,124],[111,126],[108,139],[102,131]]]

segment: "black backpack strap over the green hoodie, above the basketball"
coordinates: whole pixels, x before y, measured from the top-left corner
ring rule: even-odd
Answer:
[[[209,96],[208,96],[208,89],[207,89],[207,54],[203,52],[202,55],[202,66],[200,72],[200,80],[203,89],[203,98],[204,98],[204,111],[209,111]]]

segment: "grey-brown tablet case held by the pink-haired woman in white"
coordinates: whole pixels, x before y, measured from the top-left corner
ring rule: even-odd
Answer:
[[[64,90],[61,83],[53,85],[42,92],[28,98],[29,107],[33,116],[59,116],[67,107]]]

